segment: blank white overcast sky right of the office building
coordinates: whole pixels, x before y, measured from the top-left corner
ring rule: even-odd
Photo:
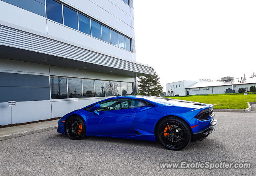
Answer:
[[[256,72],[256,0],[134,0],[136,61],[166,83]]]

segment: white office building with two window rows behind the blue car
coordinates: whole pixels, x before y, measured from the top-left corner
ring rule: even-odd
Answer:
[[[0,0],[0,125],[133,95],[150,74],[136,62],[133,0]]]

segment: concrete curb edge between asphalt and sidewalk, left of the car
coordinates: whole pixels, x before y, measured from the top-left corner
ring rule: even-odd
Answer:
[[[57,129],[57,128],[58,128],[58,125],[54,125],[54,126],[50,126],[50,127],[37,128],[37,129],[29,130],[29,131],[22,131],[22,132],[10,134],[10,135],[3,135],[3,136],[0,136],[0,141],[6,140],[6,139],[12,139],[15,137],[20,137],[20,136],[31,135],[34,133],[41,133],[43,131],[49,131],[49,130]]]

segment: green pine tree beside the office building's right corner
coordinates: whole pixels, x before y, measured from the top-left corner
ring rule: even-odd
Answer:
[[[159,77],[154,71],[153,75],[141,76],[138,80],[138,95],[159,96],[163,91]]]

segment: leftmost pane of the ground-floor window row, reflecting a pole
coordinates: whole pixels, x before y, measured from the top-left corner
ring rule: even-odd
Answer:
[[[50,84],[52,99],[68,98],[66,78],[51,76]]]

